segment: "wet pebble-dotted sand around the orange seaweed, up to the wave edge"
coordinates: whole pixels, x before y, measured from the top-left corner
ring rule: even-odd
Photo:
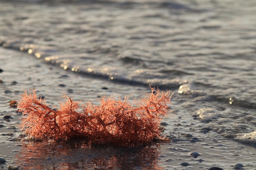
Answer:
[[[163,135],[171,141],[157,145],[160,147],[159,152],[154,149],[120,151],[119,148],[91,147],[77,141],[74,147],[63,143],[27,142],[20,136],[21,132],[16,126],[22,116],[16,109],[9,107],[10,100],[20,99],[23,88],[35,88],[38,95],[47,97],[47,104],[57,106],[63,91],[74,100],[86,99],[97,103],[101,95],[120,95],[124,98],[131,94],[130,99],[140,98],[143,96],[141,93],[148,93],[150,88],[83,77],[42,64],[43,62],[18,51],[0,48],[0,53],[0,68],[3,70],[0,73],[0,125],[3,126],[0,128],[0,158],[7,161],[0,165],[3,169],[7,169],[7,166],[18,166],[24,170],[72,167],[178,170],[220,167],[229,170],[239,168],[233,166],[235,163],[241,163],[244,169],[256,169],[255,148],[227,139],[212,131],[207,124],[193,119],[175,102],[175,95],[179,95],[177,92],[172,98],[172,109],[176,115],[164,118],[166,129]],[[4,115],[11,116],[9,122],[4,120]],[[101,150],[104,150],[104,154]],[[198,157],[191,155],[192,152],[198,152]],[[121,159],[122,155],[126,157]],[[181,166],[181,163],[189,164]]]

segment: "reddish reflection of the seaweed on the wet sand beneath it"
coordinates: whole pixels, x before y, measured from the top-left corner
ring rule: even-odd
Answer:
[[[159,153],[159,144],[120,148],[81,141],[27,142],[16,158],[22,170],[159,170]]]

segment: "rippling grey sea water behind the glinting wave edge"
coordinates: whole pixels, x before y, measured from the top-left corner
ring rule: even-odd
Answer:
[[[204,139],[246,148],[256,144],[255,16],[253,0],[2,0],[0,44],[91,84],[111,82],[106,95],[149,84],[174,91],[168,124],[183,117]],[[184,124],[165,134],[179,141]]]

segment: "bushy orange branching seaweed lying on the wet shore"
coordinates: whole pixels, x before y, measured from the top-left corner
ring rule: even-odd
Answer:
[[[72,139],[83,138],[94,144],[135,146],[147,144],[160,136],[159,124],[170,111],[170,91],[151,88],[145,97],[128,102],[114,97],[101,97],[101,104],[86,102],[80,105],[64,95],[58,110],[47,106],[45,99],[33,93],[22,95],[18,110],[27,118],[20,129],[29,138]]]

